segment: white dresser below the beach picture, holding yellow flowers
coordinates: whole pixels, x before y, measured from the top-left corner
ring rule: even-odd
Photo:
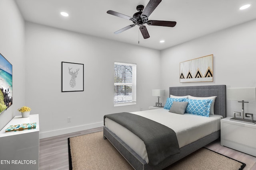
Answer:
[[[9,125],[35,123],[36,129],[8,132]],[[22,118],[15,116],[0,131],[0,169],[1,170],[38,170],[39,168],[39,117],[30,115]]]

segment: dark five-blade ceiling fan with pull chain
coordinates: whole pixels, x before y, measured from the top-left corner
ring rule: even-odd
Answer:
[[[175,21],[158,21],[158,20],[148,20],[148,17],[150,14],[156,9],[158,4],[160,4],[162,0],[150,0],[144,9],[143,5],[138,5],[137,6],[137,11],[135,14],[133,14],[132,17],[126,16],[124,14],[108,10],[107,13],[111,14],[113,16],[117,16],[120,18],[124,18],[127,20],[131,20],[134,24],[128,25],[127,27],[124,27],[122,29],[119,29],[118,31],[114,32],[115,34],[121,33],[123,31],[126,31],[127,29],[130,29],[134,27],[135,25],[138,25],[140,27],[140,32],[142,33],[144,39],[149,38],[149,33],[146,28],[145,23],[148,25],[158,25],[158,26],[165,26],[165,27],[174,27],[176,25]]]

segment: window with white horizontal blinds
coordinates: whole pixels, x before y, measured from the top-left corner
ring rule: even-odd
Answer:
[[[114,106],[136,104],[136,64],[114,63]]]

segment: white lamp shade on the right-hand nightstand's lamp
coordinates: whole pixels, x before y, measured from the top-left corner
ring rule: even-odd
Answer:
[[[227,99],[256,101],[256,87],[227,88]]]

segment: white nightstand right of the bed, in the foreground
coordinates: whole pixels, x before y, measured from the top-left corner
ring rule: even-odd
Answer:
[[[256,156],[256,125],[230,118],[220,120],[220,145]]]

